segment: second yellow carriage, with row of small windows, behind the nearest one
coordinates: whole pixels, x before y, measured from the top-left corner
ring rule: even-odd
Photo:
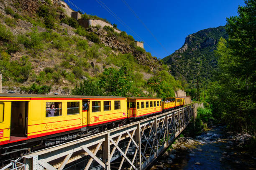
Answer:
[[[148,116],[161,111],[161,98],[127,97],[128,118]]]

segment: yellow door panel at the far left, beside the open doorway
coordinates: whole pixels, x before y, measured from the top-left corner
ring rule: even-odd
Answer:
[[[10,140],[11,102],[0,102],[0,143]]]

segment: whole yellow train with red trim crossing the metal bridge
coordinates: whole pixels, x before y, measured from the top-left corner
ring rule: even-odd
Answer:
[[[182,98],[168,99],[176,99],[175,107],[184,105]],[[173,106],[154,97],[0,94],[0,155],[62,143]]]

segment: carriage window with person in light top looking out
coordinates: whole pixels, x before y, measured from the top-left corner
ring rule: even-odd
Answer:
[[[62,102],[46,102],[46,117],[62,115]]]

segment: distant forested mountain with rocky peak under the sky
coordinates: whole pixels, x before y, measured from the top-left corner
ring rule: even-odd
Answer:
[[[170,65],[170,72],[177,77],[185,77],[189,83],[211,81],[217,68],[214,50],[220,37],[228,38],[223,26],[200,30],[186,37],[184,45],[173,54],[164,57]],[[182,74],[182,75],[181,75]]]

